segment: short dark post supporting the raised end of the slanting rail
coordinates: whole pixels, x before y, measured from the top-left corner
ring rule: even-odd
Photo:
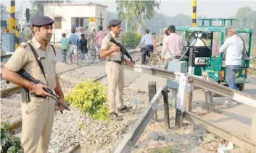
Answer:
[[[170,128],[170,115],[169,115],[169,102],[168,102],[168,87],[165,86],[162,89],[162,95],[164,100],[164,110],[165,110],[165,123],[168,124],[168,128]]]

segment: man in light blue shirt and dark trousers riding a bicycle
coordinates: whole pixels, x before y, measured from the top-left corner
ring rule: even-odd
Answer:
[[[146,56],[149,56],[149,51],[154,51],[152,35],[149,34],[149,30],[147,29],[145,30],[145,33],[146,35],[141,38],[141,43],[139,43],[138,46],[142,47],[142,45],[145,45],[143,48],[141,64],[146,64]]]

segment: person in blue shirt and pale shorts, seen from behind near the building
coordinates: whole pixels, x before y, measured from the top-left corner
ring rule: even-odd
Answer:
[[[75,29],[71,30],[71,35],[68,41],[68,45],[70,46],[69,51],[67,52],[67,56],[70,57],[70,63],[73,64],[72,61],[72,53],[75,54],[76,64],[78,65],[78,44],[79,38],[78,35],[75,35]]]

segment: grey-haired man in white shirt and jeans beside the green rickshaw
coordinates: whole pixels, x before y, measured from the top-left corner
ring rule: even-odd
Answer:
[[[228,27],[227,33],[229,38],[220,47],[219,53],[226,52],[226,82],[228,83],[228,87],[238,89],[236,86],[236,72],[241,67],[241,52],[243,51],[244,44],[241,38],[236,35],[235,27]],[[237,104],[237,102],[232,100],[228,102],[234,105]]]

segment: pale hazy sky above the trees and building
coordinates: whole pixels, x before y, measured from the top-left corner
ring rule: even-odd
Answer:
[[[10,1],[0,0],[1,4],[7,6],[7,11],[9,12]],[[107,10],[110,12],[116,12],[115,1],[96,1],[96,0],[73,0],[73,3],[88,3],[95,2],[108,6]],[[20,10],[22,6],[23,9],[30,8],[30,3],[28,0],[16,0],[16,9]],[[197,16],[205,15],[206,17],[234,17],[239,8],[243,6],[249,6],[251,9],[256,10],[256,0],[250,1],[238,1],[238,0],[197,0]],[[192,13],[192,1],[188,0],[161,0],[159,11],[162,14],[167,14],[169,16],[174,16],[176,14],[187,14],[191,16]]]

